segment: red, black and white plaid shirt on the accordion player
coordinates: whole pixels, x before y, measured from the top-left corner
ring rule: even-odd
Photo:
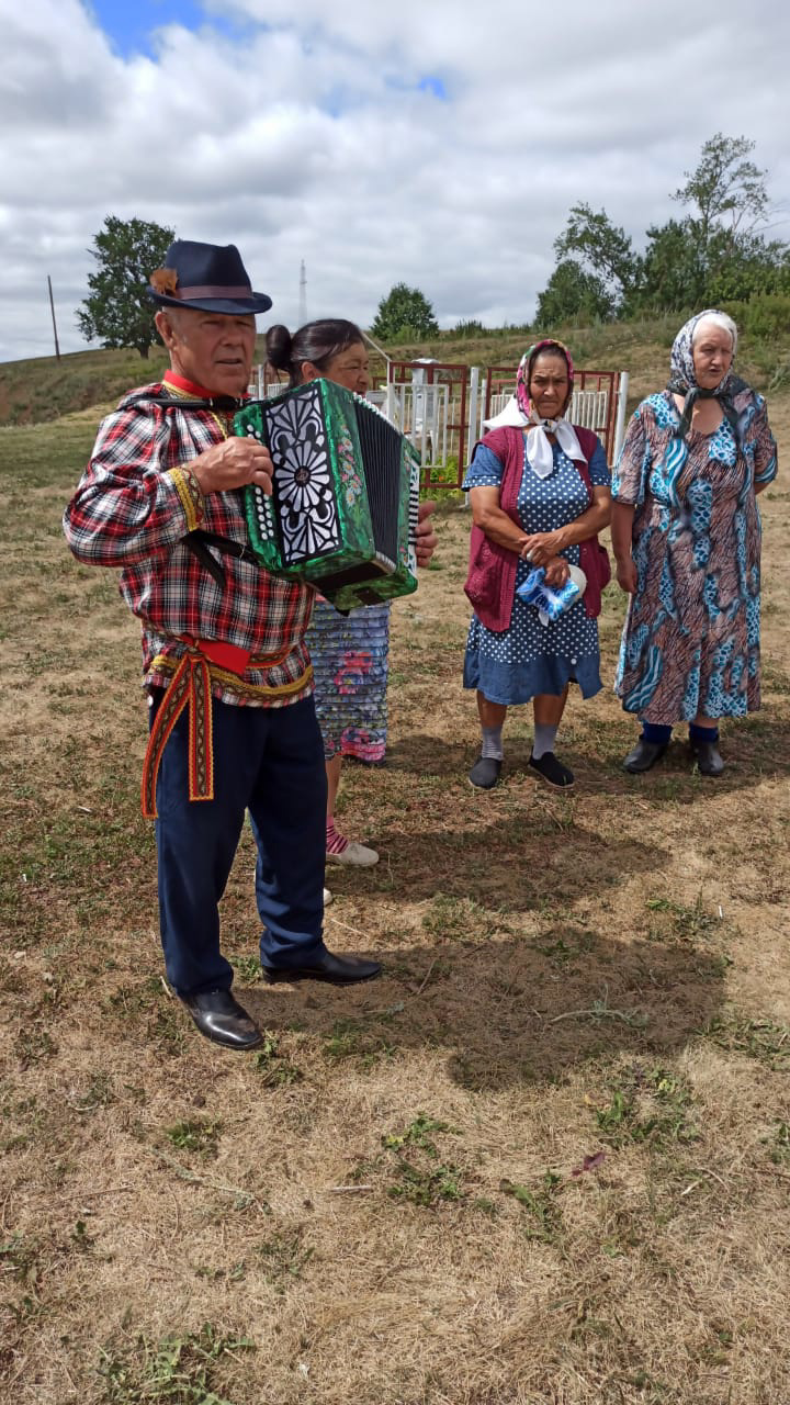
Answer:
[[[183,378],[124,396],[103,420],[91,459],[63,516],[75,556],[89,566],[121,566],[121,594],[142,622],[143,686],[167,687],[184,653],[176,635],[216,639],[253,655],[281,655],[274,667],[249,666],[243,680],[212,673],[224,702],[284,707],[312,691],[304,634],[315,592],[236,558],[218,556],[225,589],[181,542],[197,527],[247,541],[243,490],[200,490],[190,459],[221,443],[226,416],[166,410],[138,395],[204,396]],[[170,667],[157,665],[170,660]]]

